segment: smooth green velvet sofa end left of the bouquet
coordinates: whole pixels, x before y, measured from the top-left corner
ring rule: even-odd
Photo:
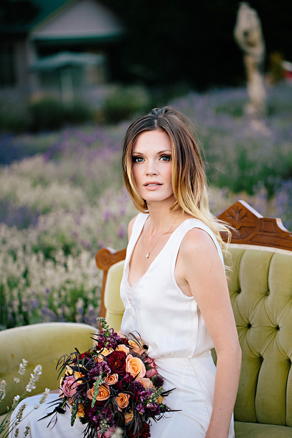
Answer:
[[[7,397],[5,405],[2,405],[0,410],[0,421],[6,407],[11,406],[13,398],[23,393],[35,365],[42,365],[42,375],[36,383],[36,388],[29,395],[39,394],[45,388],[57,389],[59,382],[56,365],[59,358],[74,351],[74,347],[80,351],[91,347],[91,334],[96,332],[96,328],[86,324],[65,322],[32,324],[1,330],[0,381],[5,380],[7,383]],[[21,376],[20,383],[13,386],[14,378],[19,377],[18,368],[22,359],[28,361],[26,373]],[[12,386],[13,391],[8,396],[9,388]]]

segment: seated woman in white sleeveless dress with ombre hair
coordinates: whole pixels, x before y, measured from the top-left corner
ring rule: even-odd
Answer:
[[[134,122],[124,140],[123,176],[139,214],[128,228],[121,332],[140,333],[164,388],[176,388],[167,404],[177,412],[153,423],[151,437],[232,438],[241,353],[221,251],[220,232],[228,229],[208,210],[187,119],[165,107]],[[31,437],[82,437],[84,426],[70,427],[69,413],[46,429],[36,412]]]

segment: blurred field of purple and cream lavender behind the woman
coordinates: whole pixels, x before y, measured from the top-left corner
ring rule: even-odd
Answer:
[[[204,148],[214,213],[236,199],[292,229],[292,86],[268,90],[268,115],[243,115],[245,89],[170,102]],[[102,246],[126,246],[135,215],[120,171],[129,122],[0,135],[0,328],[41,321],[96,323]]]

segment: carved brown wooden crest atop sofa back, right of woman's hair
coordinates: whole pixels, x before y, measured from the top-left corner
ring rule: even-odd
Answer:
[[[245,201],[237,201],[223,211],[218,219],[228,222],[238,232],[231,243],[269,246],[292,251],[292,233],[281,219],[264,218]]]

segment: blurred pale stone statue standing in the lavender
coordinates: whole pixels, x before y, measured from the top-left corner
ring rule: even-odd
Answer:
[[[249,102],[245,111],[252,117],[266,112],[266,91],[262,67],[265,58],[265,42],[258,13],[245,1],[240,3],[234,37],[242,49],[247,78]]]

